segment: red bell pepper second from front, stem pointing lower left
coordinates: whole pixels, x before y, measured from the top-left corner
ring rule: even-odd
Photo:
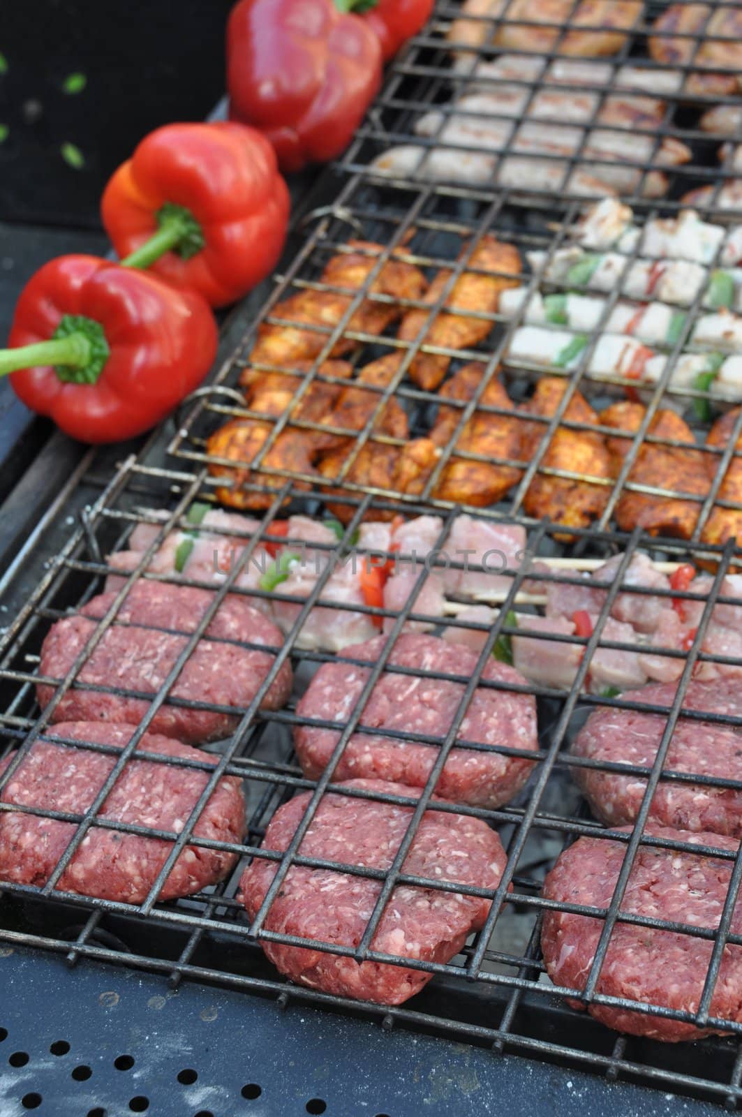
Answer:
[[[222,121],[152,132],[113,174],[101,208],[123,264],[225,306],[278,262],[289,198],[265,137]]]

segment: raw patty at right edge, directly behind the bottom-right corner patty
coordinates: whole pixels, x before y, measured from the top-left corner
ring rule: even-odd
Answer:
[[[691,682],[684,698],[689,709],[715,714],[742,714],[742,690],[731,680]],[[734,680],[736,682],[736,680]],[[657,684],[627,690],[627,701],[669,706],[675,684]],[[650,767],[666,724],[663,714],[643,714],[602,706],[590,715],[578,734],[575,756],[603,763]],[[742,726],[678,718],[667,752],[665,768],[742,781]],[[646,780],[596,768],[572,768],[577,783],[592,810],[609,825],[632,822],[641,805]],[[660,781],[651,801],[650,818],[683,830],[713,830],[717,834],[742,837],[742,790]]]

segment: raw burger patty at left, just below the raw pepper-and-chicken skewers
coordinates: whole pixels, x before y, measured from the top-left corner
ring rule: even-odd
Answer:
[[[96,621],[93,618],[103,617],[114,598],[115,593],[102,593],[76,615],[57,621],[41,648],[39,669],[42,675],[57,679],[68,675],[95,631]],[[155,694],[188,642],[187,636],[177,633],[193,632],[212,600],[209,590],[163,582],[136,582],[121,605],[116,621],[85,662],[78,680]],[[169,631],[162,631],[165,629]],[[199,640],[171,694],[191,701],[245,709],[268,674],[274,653],[217,641],[244,641],[277,648],[283,643],[280,632],[245,598],[230,594],[219,607],[206,634],[211,639]],[[278,708],[288,698],[291,689],[291,667],[284,663],[263,700],[263,707]],[[54,687],[39,685],[38,698],[42,707],[53,694]],[[149,705],[145,698],[75,687],[59,701],[53,720],[126,722],[137,725]],[[150,728],[167,737],[199,744],[227,736],[238,720],[236,714],[189,709],[165,703],[154,715]]]

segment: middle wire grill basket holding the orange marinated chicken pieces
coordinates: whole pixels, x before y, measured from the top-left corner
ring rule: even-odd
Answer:
[[[443,188],[408,187],[406,190],[396,190],[393,194],[389,192],[378,192],[365,179],[352,178],[341,193],[337,206],[331,217],[323,218],[307,238],[304,251],[297,257],[288,273],[280,278],[270,303],[261,317],[261,327],[276,328],[303,328],[306,324],[302,318],[286,317],[280,313],[280,303],[291,299],[297,293],[312,292],[321,298],[344,297],[348,306],[336,325],[311,325],[310,333],[316,333],[323,340],[322,350],[306,370],[297,371],[288,363],[274,364],[260,360],[251,360],[254,350],[255,333],[250,333],[246,338],[246,344],[240,347],[231,361],[228,361],[220,370],[218,383],[211,391],[207,391],[200,399],[199,405],[194,408],[187,421],[178,431],[171,443],[171,452],[193,466],[208,465],[215,474],[227,475],[222,481],[222,493],[227,493],[230,485],[229,467],[239,470],[239,480],[236,488],[241,491],[240,498],[235,502],[238,506],[250,506],[253,503],[265,504],[256,495],[249,491],[250,478],[259,477],[265,481],[269,480],[274,487],[280,485],[283,480],[292,479],[312,485],[316,491],[325,494],[332,493],[340,483],[349,493],[370,494],[382,497],[392,495],[402,506],[413,505],[422,502],[440,509],[450,509],[456,506],[476,507],[482,504],[481,496],[472,490],[456,493],[454,499],[446,498],[446,488],[440,483],[447,476],[451,465],[472,462],[492,465],[494,461],[501,471],[508,470],[515,474],[517,481],[507,485],[504,497],[492,507],[489,512],[494,516],[517,516],[526,522],[538,522],[542,514],[550,514],[559,522],[559,508],[545,508],[545,513],[536,512],[529,515],[527,494],[534,479],[560,478],[562,481],[586,481],[591,491],[603,493],[605,499],[600,500],[600,510],[596,514],[596,526],[605,529],[613,522],[617,506],[622,497],[631,494],[646,494],[662,499],[676,498],[682,500],[686,508],[694,509],[688,516],[688,528],[679,528],[677,534],[687,534],[693,541],[704,540],[707,533],[704,531],[708,525],[710,517],[714,508],[729,509],[731,518],[739,517],[740,505],[730,500],[729,495],[720,493],[720,488],[727,474],[730,464],[732,468],[739,468],[735,460],[739,457],[735,447],[742,433],[742,419],[736,418],[730,432],[726,445],[715,445],[707,441],[710,423],[698,419],[697,403],[706,403],[711,397],[708,389],[688,386],[678,383],[677,371],[681,369],[684,351],[689,351],[685,338],[689,338],[693,328],[706,313],[703,303],[703,290],[698,290],[689,306],[684,307],[686,315],[683,340],[674,343],[667,350],[667,361],[662,374],[651,379],[631,379],[626,374],[605,373],[591,365],[591,357],[596,349],[597,338],[600,336],[602,327],[608,323],[611,313],[620,302],[625,302],[621,293],[620,278],[617,280],[613,290],[605,296],[605,305],[599,313],[599,325],[594,332],[593,340],[589,342],[580,354],[578,362],[570,369],[558,367],[552,364],[544,369],[544,365],[533,360],[524,360],[511,353],[511,347],[516,334],[524,324],[525,305],[516,311],[512,316],[505,317],[501,312],[488,313],[486,311],[457,312],[456,318],[484,319],[485,324],[492,322],[492,331],[485,340],[485,344],[479,349],[454,349],[444,345],[426,344],[425,337],[430,328],[440,323],[447,313],[447,296],[460,276],[482,276],[482,269],[467,267],[467,260],[476,252],[487,233],[496,230],[497,239],[501,244],[515,247],[523,260],[523,274],[520,277],[522,284],[527,285],[533,294],[542,290],[567,294],[574,289],[574,285],[568,280],[556,281],[550,278],[550,265],[559,252],[568,244],[568,230],[573,228],[580,217],[581,209],[578,203],[571,203],[564,214],[563,222],[556,233],[550,231],[550,212],[545,210],[532,211],[527,217],[523,211],[510,204],[505,197],[500,195],[496,200],[487,200],[479,195],[476,210],[470,208],[473,199],[459,198],[449,193]],[[464,217],[454,217],[447,210],[458,208]],[[646,210],[646,219],[654,220],[660,216],[659,210]],[[382,250],[377,249],[377,256],[372,250],[367,250],[367,256],[374,260],[374,270],[368,277],[363,287],[353,294],[348,287],[337,287],[323,283],[316,278],[321,274],[329,259],[343,258],[353,250],[348,245],[349,220],[352,220],[353,229],[360,233],[364,240],[378,241],[384,245]],[[412,240],[407,241],[410,232],[415,230]],[[405,247],[402,248],[401,246]],[[462,255],[462,249],[464,255]],[[400,251],[402,258],[416,267],[425,269],[428,274],[435,275],[440,270],[450,270],[450,279],[446,289],[440,293],[440,297],[435,304],[424,304],[421,300],[398,299],[398,312],[405,309],[425,309],[429,318],[419,335],[413,341],[403,341],[392,335],[391,330],[382,335],[372,335],[351,327],[350,323],[358,307],[364,302],[368,305],[389,305],[392,299],[389,296],[374,294],[371,289],[375,276],[384,265],[393,258],[392,254]],[[543,259],[535,271],[527,271],[525,255],[527,252],[543,254]],[[457,259],[458,257],[458,259]],[[641,261],[640,241],[637,241],[631,251],[621,255],[625,259],[624,275],[627,275],[631,266]],[[491,275],[492,273],[489,273]],[[517,281],[513,271],[495,273],[498,278],[511,283]],[[650,299],[636,300],[638,306],[648,305]],[[393,328],[393,327],[392,327]],[[544,330],[555,331],[549,323]],[[572,331],[577,335],[575,331]],[[562,337],[555,331],[554,337]],[[259,336],[259,335],[258,335]],[[317,343],[318,345],[320,343]],[[274,374],[277,378],[285,378],[289,384],[296,385],[296,399],[308,399],[313,393],[326,390],[329,386],[337,386],[343,381],[339,380],[327,371],[324,365],[326,359],[341,347],[354,347],[358,352],[346,354],[356,361],[358,365],[367,366],[380,357],[388,357],[396,354],[401,363],[394,376],[386,388],[367,385],[363,383],[363,391],[369,395],[378,397],[378,403],[370,414],[368,421],[361,430],[352,430],[348,427],[327,426],[326,422],[293,417],[289,409],[280,416],[273,417],[265,409],[251,409],[244,400],[235,402],[236,397],[227,393],[226,385],[234,384],[244,367],[254,374]],[[723,346],[721,346],[723,347]],[[382,488],[373,483],[373,475],[367,477],[354,471],[354,466],[359,460],[364,447],[373,450],[379,456],[391,456],[394,450],[405,445],[405,439],[383,433],[375,428],[377,418],[383,411],[388,401],[393,397],[408,416],[410,435],[420,439],[428,438],[431,433],[435,437],[436,416],[439,414],[441,395],[438,391],[424,390],[410,378],[409,371],[413,363],[421,356],[431,354],[454,362],[451,367],[460,367],[467,362],[478,361],[482,363],[483,373],[481,383],[472,398],[457,400],[446,398],[445,405],[449,410],[455,410],[459,414],[458,423],[455,426],[448,441],[440,448],[435,466],[422,475],[422,479],[415,487],[412,493],[397,486],[393,481],[387,483]],[[323,366],[324,365],[324,366]],[[493,385],[498,371],[502,369],[501,379],[510,397],[510,405],[494,405],[487,402],[479,402],[487,389]],[[524,412],[522,404],[527,402],[534,385],[544,375],[560,378],[564,384],[564,392],[552,416]],[[450,378],[449,378],[450,379]],[[354,383],[361,383],[358,379]],[[446,384],[444,384],[444,390]],[[625,390],[628,390],[636,398],[640,393],[646,402],[646,411],[643,414],[638,429],[628,430],[624,427],[616,427],[615,420],[606,419],[603,423],[598,421],[593,414],[584,419],[572,417],[569,411],[570,405],[577,402],[581,393],[590,402],[596,412],[602,408],[608,408],[620,400]],[[734,393],[721,392],[719,402],[729,407],[734,398]],[[506,397],[507,399],[507,397]],[[227,402],[225,402],[227,401]],[[515,408],[516,410],[511,410]],[[682,412],[682,431],[665,432],[663,426],[655,433],[655,427],[667,411]],[[529,447],[527,452],[522,450],[519,455],[505,454],[503,456],[492,451],[488,447],[484,452],[476,450],[476,441],[469,448],[470,440],[466,440],[466,427],[476,412],[483,417],[503,417],[520,433],[533,427],[541,426],[543,437],[534,440],[535,445]],[[735,412],[736,414],[736,412]],[[265,427],[267,437],[265,442],[256,449],[249,458],[242,458],[239,445],[235,451],[225,456],[221,443],[209,443],[209,436],[213,435],[215,428],[220,422],[245,422]],[[606,426],[607,423],[608,426]],[[598,438],[601,443],[607,435],[617,436],[620,430],[625,431],[630,448],[625,454],[620,467],[612,469],[612,476],[607,476],[606,471],[583,470],[564,468],[563,465],[552,465],[549,450],[552,446],[553,436],[556,431],[573,431],[575,436]],[[352,448],[348,451],[342,468],[333,476],[326,477],[317,472],[316,468],[302,468],[295,465],[294,450],[299,440],[316,440],[318,435],[327,432],[345,436],[353,440]],[[284,452],[280,462],[270,459],[273,451],[280,451],[280,436],[288,435],[292,438],[289,452]],[[293,440],[296,441],[293,441]],[[684,441],[685,439],[685,441]],[[688,441],[689,440],[689,441]],[[695,441],[694,441],[695,440]],[[462,443],[462,445],[459,445]],[[312,442],[312,446],[315,443]],[[651,484],[651,477],[645,475],[645,479],[638,476],[643,454],[647,450],[674,451],[685,450],[687,445],[694,446],[697,456],[697,470],[707,481],[698,486],[687,487],[678,484],[673,485],[675,471],[670,468],[667,479],[659,484]],[[284,443],[285,446],[285,443]],[[314,452],[313,450],[311,452]],[[315,455],[315,458],[318,455]],[[253,472],[250,472],[250,466]],[[322,468],[322,466],[320,466]],[[231,472],[231,477],[235,474]],[[247,477],[247,484],[244,478]],[[524,506],[525,502],[525,506]],[[230,500],[231,503],[231,500]],[[348,506],[351,507],[350,505]],[[350,512],[346,513],[350,515]],[[572,525],[573,526],[573,525]],[[630,527],[634,524],[629,525]],[[669,531],[669,534],[675,534]],[[659,534],[662,532],[662,525]]]

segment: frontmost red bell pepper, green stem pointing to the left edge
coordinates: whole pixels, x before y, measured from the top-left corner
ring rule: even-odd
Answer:
[[[0,375],[13,373],[23,403],[83,442],[115,442],[154,427],[201,383],[218,333],[194,290],[60,256],[21,292],[9,343]]]

